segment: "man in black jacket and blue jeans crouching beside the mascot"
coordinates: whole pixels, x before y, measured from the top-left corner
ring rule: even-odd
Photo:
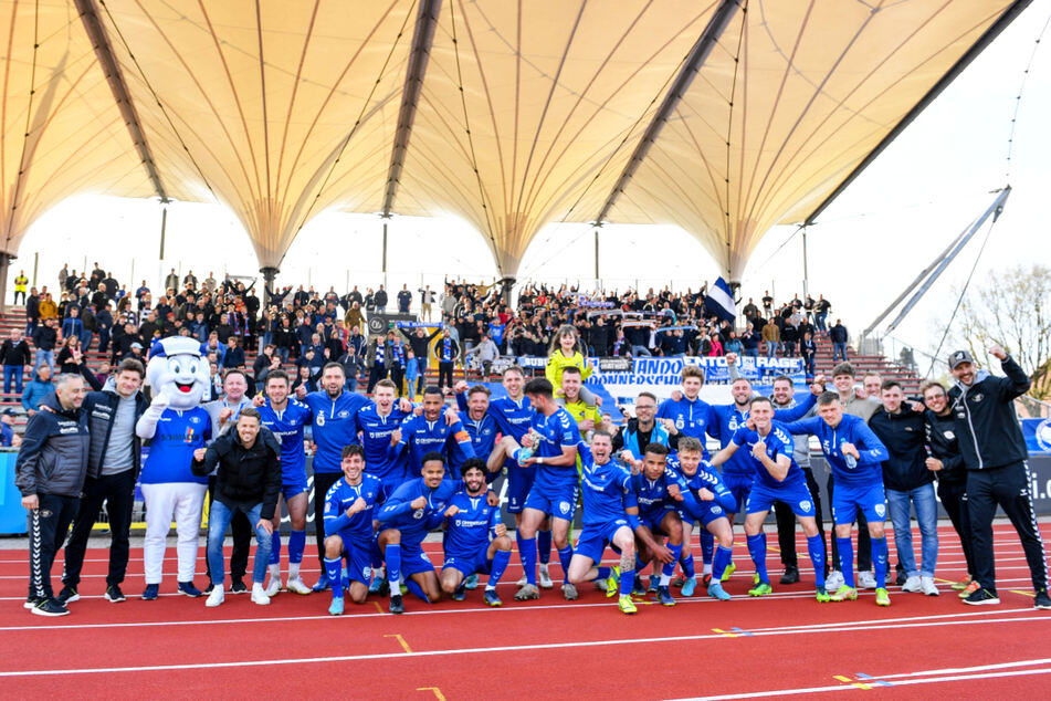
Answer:
[[[238,511],[243,512],[255,527],[252,601],[270,604],[263,580],[270,561],[271,521],[281,493],[281,443],[270,429],[262,426],[256,409],[241,409],[235,430],[227,431],[207,449],[195,452],[193,474],[211,474],[217,467],[214,500],[208,514],[208,565],[213,588],[204,605],[219,606],[223,601],[222,544],[227,527]]]

